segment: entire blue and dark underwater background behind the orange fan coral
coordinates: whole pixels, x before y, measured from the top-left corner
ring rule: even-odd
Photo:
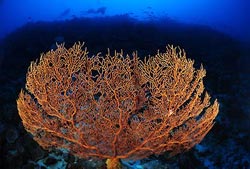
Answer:
[[[123,168],[250,168],[250,1],[0,0],[0,168],[105,168],[105,160],[46,151],[24,129],[16,99],[31,61],[56,43],[85,42],[89,56],[121,50],[140,57],[167,44],[207,70],[216,123],[200,144],[169,158],[124,161]]]

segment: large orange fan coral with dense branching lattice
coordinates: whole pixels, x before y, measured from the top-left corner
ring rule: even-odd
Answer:
[[[58,45],[29,67],[18,111],[43,148],[119,168],[119,159],[188,150],[212,128],[219,105],[183,50],[167,46],[141,61],[136,53],[88,57],[82,47]]]

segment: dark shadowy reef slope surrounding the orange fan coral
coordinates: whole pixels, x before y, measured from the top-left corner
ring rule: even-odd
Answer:
[[[105,12],[105,9],[104,9]],[[74,18],[27,23],[0,42],[0,168],[105,168],[103,161],[80,160],[64,152],[47,152],[23,128],[16,108],[30,61],[65,42],[86,42],[93,53],[137,50],[141,58],[165,50],[167,44],[184,48],[187,57],[207,70],[206,89],[220,102],[216,124],[189,152],[171,159],[166,155],[141,160],[149,168],[250,168],[250,48],[200,25],[169,18],[138,21],[128,15]],[[249,45],[250,46],[250,45]],[[124,168],[137,164],[124,162]],[[138,164],[139,165],[139,164]]]

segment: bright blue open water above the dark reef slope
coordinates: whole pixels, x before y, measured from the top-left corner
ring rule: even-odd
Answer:
[[[248,0],[2,0],[0,38],[28,22],[74,17],[128,14],[144,20],[162,17],[210,26],[243,41],[250,41]]]

